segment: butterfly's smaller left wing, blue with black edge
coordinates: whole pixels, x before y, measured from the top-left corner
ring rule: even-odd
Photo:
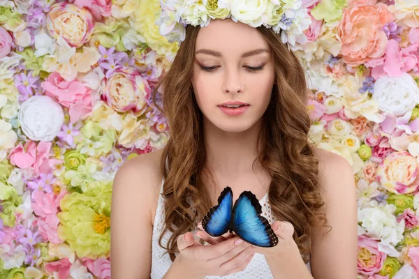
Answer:
[[[208,211],[203,219],[203,229],[210,236],[221,236],[230,227],[233,209],[233,191],[230,187],[224,188],[219,196],[218,203]]]

